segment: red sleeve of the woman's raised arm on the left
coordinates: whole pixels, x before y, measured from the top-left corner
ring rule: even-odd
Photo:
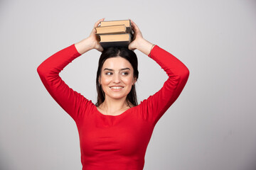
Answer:
[[[56,52],[54,55],[48,57],[42,62],[37,72],[43,85],[46,87],[50,96],[75,120],[79,120],[80,116],[84,114],[84,108],[87,106],[87,98],[76,91],[73,91],[60,78],[59,73],[70,62],[79,57],[80,53],[75,48],[75,44]]]

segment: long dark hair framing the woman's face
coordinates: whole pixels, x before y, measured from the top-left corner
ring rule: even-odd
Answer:
[[[132,64],[132,68],[134,69],[134,79],[138,79],[139,77],[139,71],[138,71],[138,59],[135,52],[132,50],[129,50],[127,47],[108,47],[102,51],[102,54],[100,55],[99,59],[99,65],[97,69],[97,76],[96,76],[96,88],[97,88],[97,103],[95,106],[100,106],[103,101],[105,101],[105,93],[102,90],[102,86],[99,82],[99,77],[102,72],[102,66],[104,62],[111,57],[123,57],[127,61],[129,61],[130,64]],[[137,94],[135,89],[135,84],[132,85],[132,89],[127,95],[127,103],[132,103],[132,105],[137,106]]]

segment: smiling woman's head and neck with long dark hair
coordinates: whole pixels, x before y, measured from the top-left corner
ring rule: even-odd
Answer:
[[[107,114],[106,107],[114,101],[122,101],[124,105],[121,106],[121,110],[110,111],[112,115],[137,106],[135,82],[138,77],[137,55],[132,50],[125,47],[110,47],[103,50],[96,77],[98,110]]]

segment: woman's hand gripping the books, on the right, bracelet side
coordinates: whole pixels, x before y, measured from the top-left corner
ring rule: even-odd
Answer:
[[[134,38],[131,43],[129,43],[128,49],[135,50],[137,49],[139,42],[141,42],[144,38],[142,37],[142,32],[139,30],[139,27],[130,19],[132,23],[132,30],[134,30]]]

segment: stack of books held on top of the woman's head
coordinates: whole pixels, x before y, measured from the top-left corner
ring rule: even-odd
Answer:
[[[130,20],[102,21],[95,30],[104,49],[115,46],[128,47],[134,35]]]

